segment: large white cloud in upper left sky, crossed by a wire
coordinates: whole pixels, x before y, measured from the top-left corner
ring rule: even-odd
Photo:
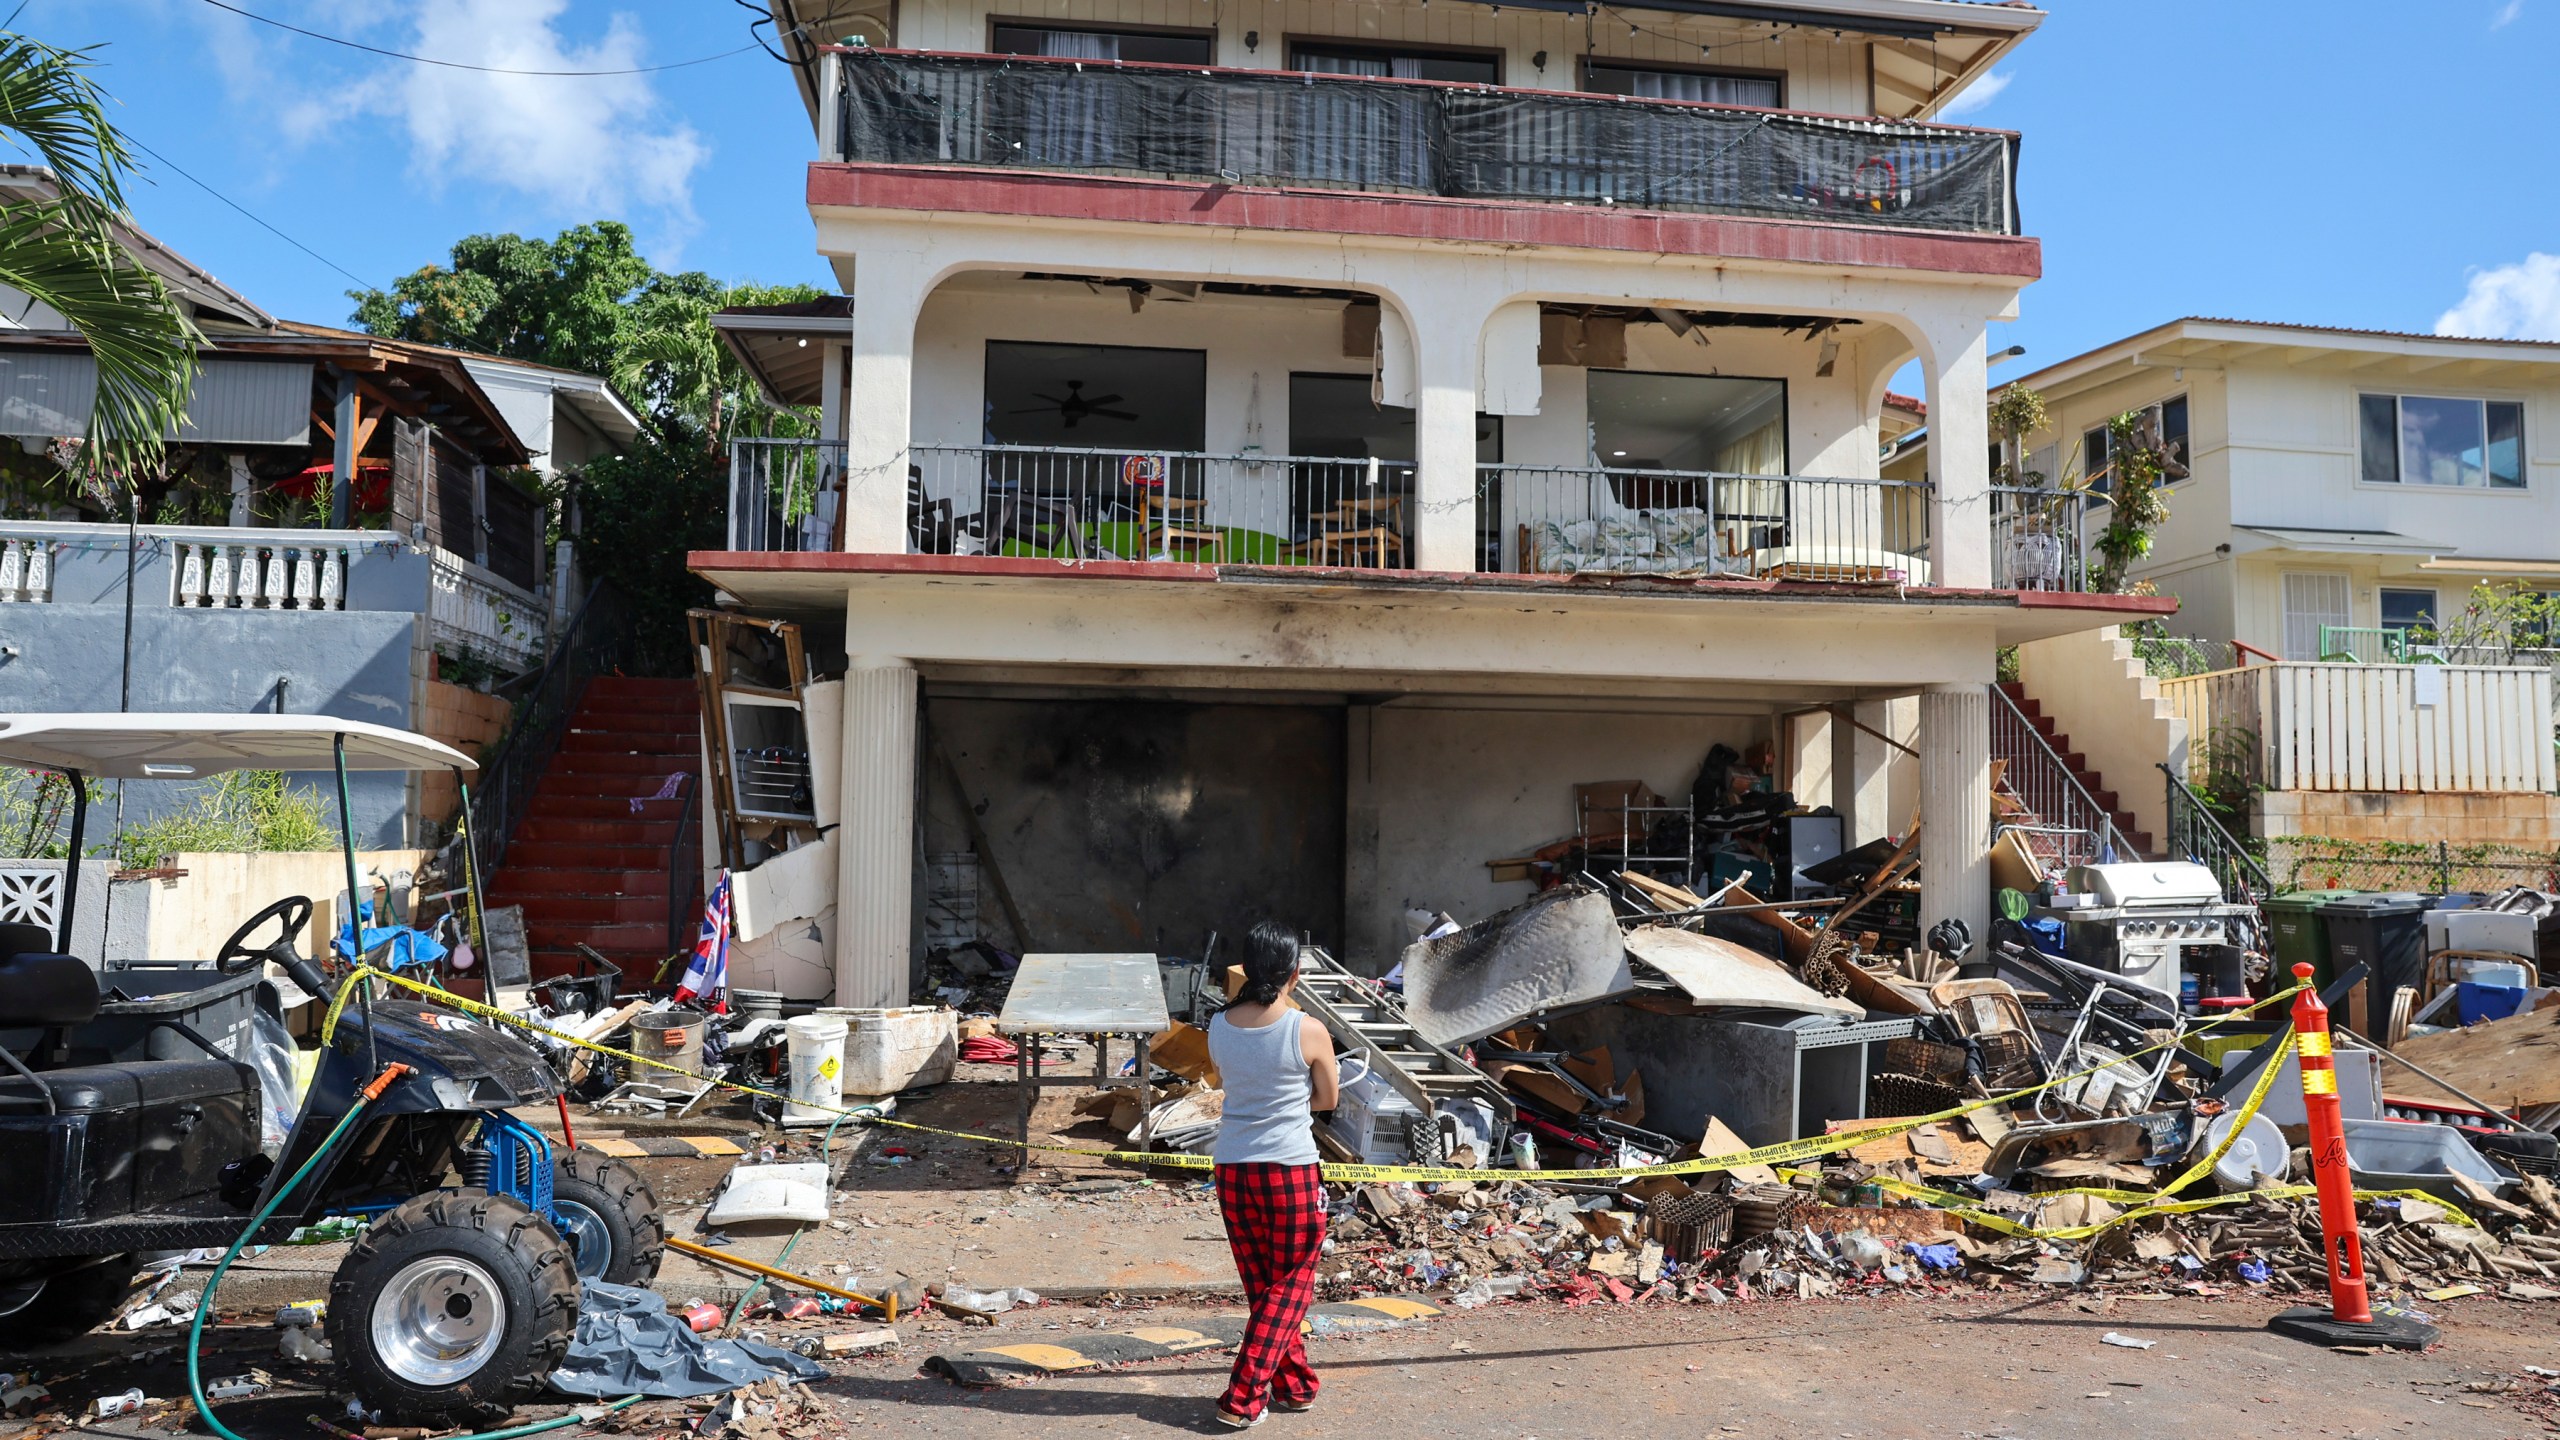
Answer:
[[[614,15],[594,44],[556,28],[568,0],[430,0],[394,49],[502,69],[632,69],[650,64],[640,26]],[[348,92],[330,105],[346,105]],[[561,220],[650,215],[658,249],[694,231],[694,172],[709,146],[663,115],[648,74],[484,74],[389,61],[353,102],[410,133],[410,164],[435,187],[497,184],[530,195]],[[289,133],[312,138],[317,115],[287,110]],[[668,256],[658,256],[671,264]]]

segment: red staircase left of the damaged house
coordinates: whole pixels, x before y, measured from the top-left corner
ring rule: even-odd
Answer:
[[[576,974],[573,945],[586,943],[637,989],[671,951],[691,943],[691,922],[701,915],[701,851],[691,835],[678,835],[678,817],[701,779],[694,774],[701,769],[699,730],[689,679],[604,674],[586,684],[507,843],[507,861],[489,881],[489,904],[525,907],[535,979]],[[676,799],[645,799],[676,771],[691,776]],[[699,799],[684,825],[701,825]],[[678,866],[684,874],[671,876]],[[671,887],[684,889],[673,930]]]

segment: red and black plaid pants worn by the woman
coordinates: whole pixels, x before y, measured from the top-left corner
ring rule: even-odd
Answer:
[[[1236,1345],[1236,1371],[1219,1396],[1226,1414],[1262,1414],[1272,1399],[1316,1399],[1306,1363],[1306,1309],[1316,1304],[1316,1258],[1324,1250],[1324,1181],[1316,1166],[1219,1166],[1219,1209],[1252,1320]]]

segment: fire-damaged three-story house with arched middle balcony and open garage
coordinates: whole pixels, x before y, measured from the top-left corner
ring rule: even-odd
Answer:
[[[837,1004],[965,851],[1037,948],[1382,969],[1713,746],[1902,833],[1912,697],[1923,907],[1984,933],[1997,648],[2168,610],[2004,569],[1984,336],[2043,261],[2017,136],[1933,115],[2040,10],[773,15],[845,295],[722,325],[829,441],[740,446],[694,569],[845,674]],[[1884,479],[1912,359],[1948,443]]]

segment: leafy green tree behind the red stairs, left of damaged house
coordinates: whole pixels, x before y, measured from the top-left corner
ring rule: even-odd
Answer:
[[[724,543],[724,446],[732,436],[817,433],[817,415],[765,405],[712,315],[822,295],[809,284],[660,272],[614,220],[548,241],[471,236],[448,264],[410,272],[392,290],[348,292],[356,325],[376,336],[599,374],[640,407],[643,441],[591,461],[568,487],[579,566],[622,594],[643,666],[658,674],[691,669],[684,612],[712,600],[684,556]]]

